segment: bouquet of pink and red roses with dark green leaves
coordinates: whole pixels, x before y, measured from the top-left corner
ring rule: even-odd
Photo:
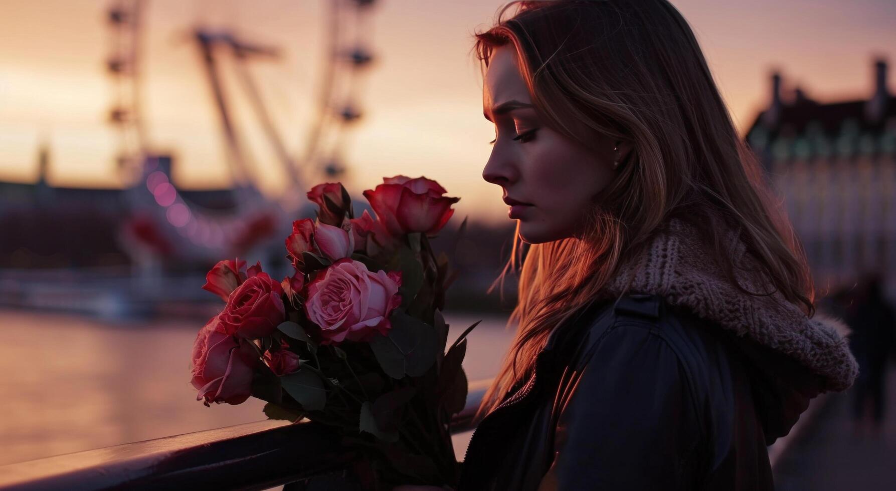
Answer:
[[[426,177],[384,178],[364,192],[375,218],[355,218],[340,183],[316,185],[317,220],[296,220],[286,239],[294,274],[216,264],[202,288],[227,305],[196,336],[196,399],[253,396],[269,418],[332,426],[366,452],[375,482],[455,485],[449,424],[466,402],[476,324],[445,351],[455,273],[429,242],[460,199],[445,193]]]

